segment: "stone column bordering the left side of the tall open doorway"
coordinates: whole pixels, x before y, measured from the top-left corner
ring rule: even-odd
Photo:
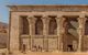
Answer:
[[[63,52],[63,36],[64,36],[64,32],[65,32],[63,23],[65,21],[65,18],[57,16],[56,21],[57,21],[57,35],[58,35],[58,51]]]

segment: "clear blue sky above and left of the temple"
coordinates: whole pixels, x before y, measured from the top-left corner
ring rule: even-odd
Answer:
[[[11,4],[88,4],[88,0],[0,0],[0,22],[9,23]]]

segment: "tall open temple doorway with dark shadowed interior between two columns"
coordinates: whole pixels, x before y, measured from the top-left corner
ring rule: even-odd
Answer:
[[[64,52],[76,52],[78,45],[78,21],[77,16],[65,16],[64,22],[65,34],[63,36],[63,51]]]

